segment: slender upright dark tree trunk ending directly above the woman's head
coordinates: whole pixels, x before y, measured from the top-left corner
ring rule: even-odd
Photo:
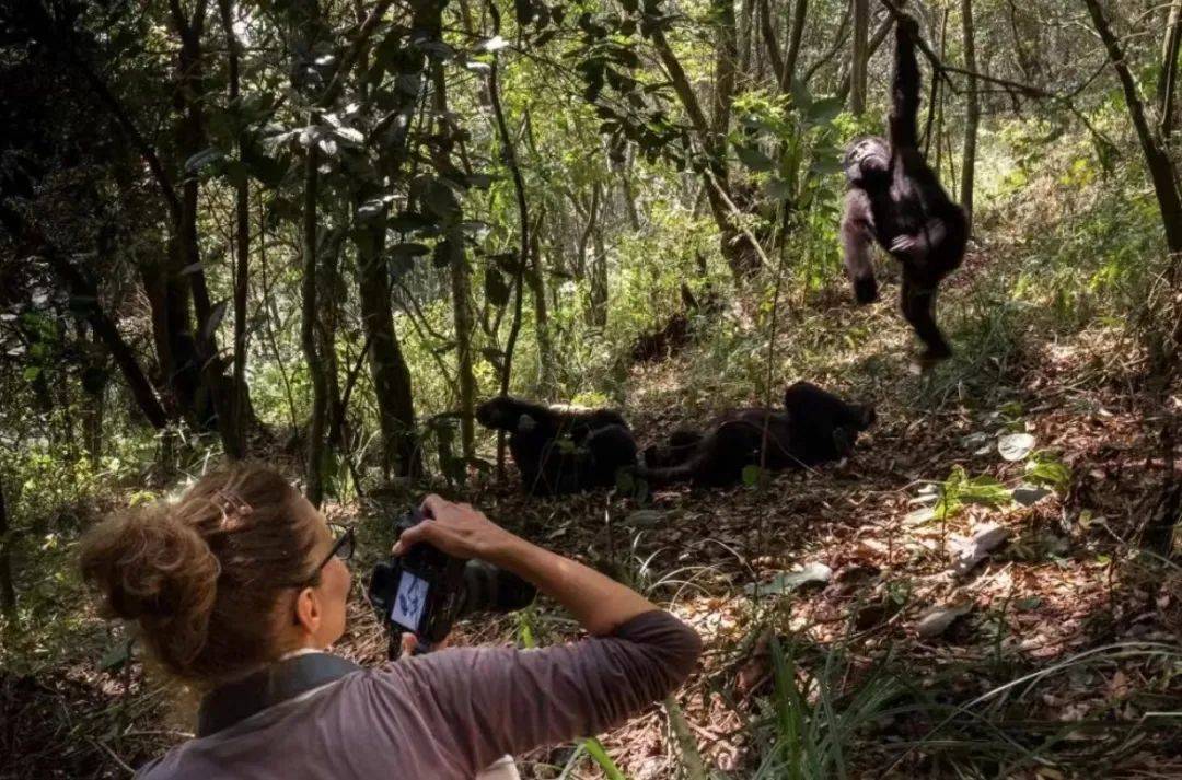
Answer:
[[[227,67],[229,78],[229,109],[238,119],[239,137],[236,139],[239,161],[246,151],[246,129],[241,121],[241,103],[239,98],[239,59],[242,44],[234,34],[234,18],[230,12],[230,0],[217,0],[221,12],[222,32],[226,35]],[[234,186],[234,401],[233,424],[234,436],[242,443],[246,451],[246,298],[251,279],[251,184],[245,173],[239,174]]]

